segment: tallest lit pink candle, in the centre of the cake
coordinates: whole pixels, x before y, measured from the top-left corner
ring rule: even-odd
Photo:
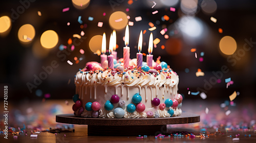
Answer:
[[[128,25],[126,25],[126,28],[125,28],[124,44],[125,44],[125,47],[123,47],[123,66],[124,68],[126,68],[126,67],[129,67],[129,62],[130,62],[130,47],[128,46],[129,45]]]

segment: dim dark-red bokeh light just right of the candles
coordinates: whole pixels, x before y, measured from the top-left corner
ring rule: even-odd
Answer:
[[[182,41],[178,38],[169,38],[165,42],[165,50],[170,55],[177,55],[181,52]]]

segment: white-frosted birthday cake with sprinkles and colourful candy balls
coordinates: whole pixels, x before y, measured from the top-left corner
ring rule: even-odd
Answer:
[[[133,62],[134,61],[134,62]],[[181,115],[182,96],[178,94],[179,76],[165,62],[144,62],[136,68],[136,59],[124,68],[102,68],[89,62],[75,75],[74,114],[94,118],[146,118]]]

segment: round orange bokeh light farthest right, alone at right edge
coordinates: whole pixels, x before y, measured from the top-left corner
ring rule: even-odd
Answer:
[[[237,42],[230,36],[225,36],[220,40],[220,50],[225,55],[232,55],[237,50]]]

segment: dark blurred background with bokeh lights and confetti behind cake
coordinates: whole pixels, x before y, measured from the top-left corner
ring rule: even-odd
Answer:
[[[131,59],[140,31],[145,54],[153,33],[154,60],[165,61],[179,75],[183,111],[201,115],[196,126],[251,127],[256,119],[255,6],[252,0],[1,2],[0,90],[8,86],[10,122],[55,124],[47,114],[72,113],[74,75],[87,62],[100,61],[103,32],[108,49],[116,30],[122,58],[128,24]]]

